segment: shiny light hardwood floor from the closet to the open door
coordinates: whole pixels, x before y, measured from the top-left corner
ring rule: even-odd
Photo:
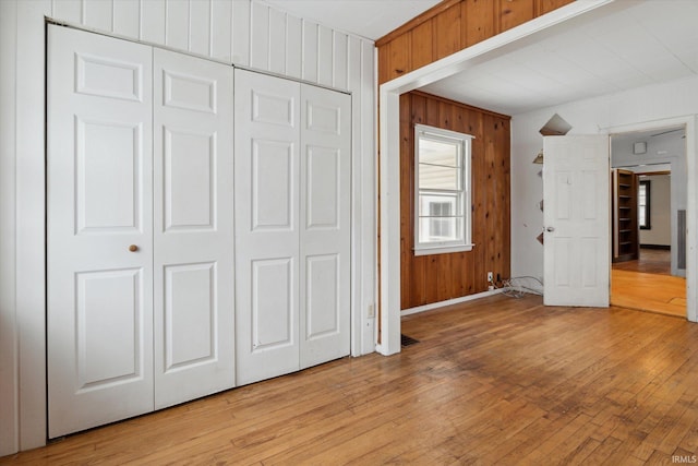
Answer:
[[[345,358],[2,464],[672,464],[698,452],[698,325],[504,296]]]

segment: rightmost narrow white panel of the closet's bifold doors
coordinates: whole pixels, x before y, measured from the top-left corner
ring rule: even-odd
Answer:
[[[351,97],[301,87],[301,368],[349,355]]]

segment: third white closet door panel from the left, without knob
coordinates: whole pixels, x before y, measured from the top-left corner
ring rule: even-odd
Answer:
[[[298,83],[236,70],[237,381],[299,370]]]

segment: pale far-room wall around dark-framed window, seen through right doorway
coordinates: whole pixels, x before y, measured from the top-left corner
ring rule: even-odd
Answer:
[[[640,244],[672,246],[672,178],[653,175],[645,179],[650,182],[650,228],[640,230]]]

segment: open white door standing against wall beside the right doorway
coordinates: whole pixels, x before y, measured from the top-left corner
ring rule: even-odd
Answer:
[[[544,303],[607,307],[609,136],[544,138]]]

